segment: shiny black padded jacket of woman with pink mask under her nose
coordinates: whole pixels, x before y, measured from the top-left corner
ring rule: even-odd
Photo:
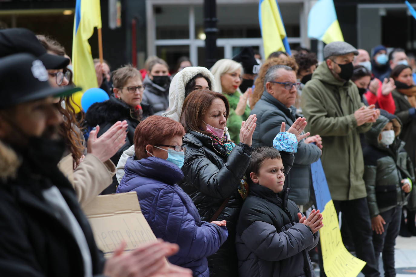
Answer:
[[[209,221],[221,204],[228,199],[216,220],[227,221],[228,239],[214,254],[208,257],[210,276],[238,276],[235,250],[235,226],[243,199],[238,192],[253,147],[240,142],[228,157],[217,152],[211,137],[200,132],[185,134],[185,162],[182,167],[185,178],[180,185],[195,203],[201,220]],[[293,163],[293,155],[281,152],[285,169]]]

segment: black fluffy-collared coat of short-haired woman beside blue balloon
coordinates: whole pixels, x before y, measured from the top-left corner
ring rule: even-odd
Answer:
[[[143,109],[143,119],[153,114],[151,107],[147,103],[142,101],[140,105]],[[140,123],[139,120],[131,117],[130,107],[123,101],[113,96],[111,96],[107,101],[92,104],[85,114],[85,120],[89,127],[95,127],[97,125],[100,126],[98,136],[104,134],[104,132],[109,130],[110,127],[117,121],[127,121],[129,126],[127,127],[128,132],[126,143],[119,149],[119,151],[117,151],[113,157],[111,157],[111,161],[114,162],[114,164],[118,164],[121,154],[123,154],[125,150],[129,149],[129,147],[134,144],[134,130],[136,130],[137,125]],[[119,182],[114,175],[113,183],[108,188],[104,189],[102,194],[116,193],[116,187],[118,185]]]

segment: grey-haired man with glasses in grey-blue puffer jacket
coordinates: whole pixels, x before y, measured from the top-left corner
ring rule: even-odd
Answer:
[[[287,130],[299,117],[294,104],[300,82],[296,81],[296,72],[291,67],[284,65],[270,67],[266,72],[264,87],[262,97],[251,111],[251,114],[257,115],[253,147],[273,147],[273,139],[280,132],[282,122],[286,123]],[[316,145],[310,142],[315,142]],[[319,135],[301,140],[295,153],[293,167],[285,178],[285,187],[291,188],[289,198],[300,207],[301,211],[310,197],[312,181],[309,167],[321,156],[321,148]]]

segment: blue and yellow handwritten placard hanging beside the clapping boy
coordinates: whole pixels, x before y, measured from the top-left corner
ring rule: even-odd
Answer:
[[[324,222],[319,230],[319,240],[325,274],[327,277],[356,277],[366,263],[351,255],[342,243],[338,215],[320,159],[311,164],[311,172],[317,208],[322,213]]]

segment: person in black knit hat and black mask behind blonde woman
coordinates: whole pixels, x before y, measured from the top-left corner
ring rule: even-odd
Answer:
[[[248,88],[253,86],[254,79],[260,70],[260,64],[254,57],[252,47],[244,47],[240,53],[233,57],[233,60],[243,65],[244,74],[243,81],[240,84],[240,91],[244,93]]]

